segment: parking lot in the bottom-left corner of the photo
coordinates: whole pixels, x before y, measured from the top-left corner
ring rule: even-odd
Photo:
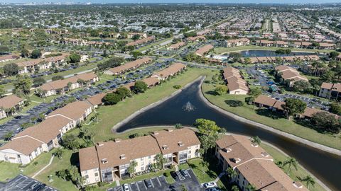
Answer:
[[[38,189],[39,188],[39,189]],[[22,191],[22,190],[33,190],[38,189],[40,191],[53,191],[53,187],[49,187],[38,180],[29,178],[25,175],[18,175],[8,183],[0,184],[0,190],[6,191]]]

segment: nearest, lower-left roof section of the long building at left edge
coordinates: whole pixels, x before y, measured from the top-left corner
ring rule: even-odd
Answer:
[[[42,144],[42,142],[31,137],[23,137],[21,139],[9,141],[9,143],[0,147],[0,151],[4,149],[13,149],[14,151],[18,151],[19,153],[28,156]]]

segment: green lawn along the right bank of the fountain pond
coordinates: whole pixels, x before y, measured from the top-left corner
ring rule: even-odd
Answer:
[[[207,76],[207,80],[210,79],[211,76]],[[224,110],[247,118],[248,120],[274,127],[275,129],[279,129],[283,132],[294,134],[297,137],[308,139],[318,144],[330,146],[335,149],[341,149],[340,135],[319,133],[315,129],[310,129],[308,127],[304,127],[303,125],[298,125],[293,120],[287,120],[287,118],[283,115],[277,114],[276,112],[271,112],[270,110],[264,108],[254,107],[253,110],[252,105],[248,105],[247,103],[245,103],[245,98],[247,98],[248,96],[235,96],[228,94],[225,94],[223,96],[215,96],[214,89],[215,86],[213,86],[212,84],[202,84],[202,92],[204,93],[205,98],[210,100],[210,102],[214,105],[219,105],[219,107]],[[229,100],[239,100],[244,103],[244,105],[239,107],[231,107],[227,105],[227,102]]]

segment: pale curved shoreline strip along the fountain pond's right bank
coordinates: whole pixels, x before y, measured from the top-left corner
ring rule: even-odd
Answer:
[[[321,151],[325,151],[325,152],[328,152],[330,154],[335,154],[337,156],[341,156],[341,150],[334,149],[332,147],[325,146],[325,145],[322,145],[322,144],[318,144],[318,143],[315,143],[313,141],[309,141],[308,139],[303,139],[301,137],[297,137],[296,135],[289,134],[287,132],[282,132],[281,130],[278,130],[278,129],[275,129],[274,127],[270,127],[270,126],[261,124],[259,122],[254,122],[254,121],[251,121],[251,120],[247,120],[244,117],[240,117],[239,115],[235,115],[232,112],[229,112],[227,110],[224,110],[224,109],[220,108],[217,105],[214,105],[209,100],[207,100],[207,98],[205,98],[205,96],[203,95],[202,87],[201,87],[202,82],[203,82],[203,79],[202,79],[202,81],[200,82],[200,85],[199,85],[199,88],[200,88],[199,89],[199,91],[200,91],[199,95],[200,95],[200,98],[202,99],[202,101],[204,101],[208,106],[210,106],[210,108],[213,108],[213,109],[217,110],[218,112],[221,112],[224,115],[232,117],[234,120],[238,120],[240,122],[244,122],[244,123],[247,123],[249,125],[253,125],[254,127],[259,127],[261,129],[265,129],[265,130],[267,130],[269,132],[273,132],[275,134],[281,135],[281,136],[286,137],[288,139],[292,139],[294,141],[298,141],[301,144],[305,144],[306,146],[311,146],[311,147],[313,147],[315,149],[320,149]]]

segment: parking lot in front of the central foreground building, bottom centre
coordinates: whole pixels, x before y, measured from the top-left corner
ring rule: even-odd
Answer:
[[[153,177],[150,179],[141,180],[141,181],[137,181],[134,183],[129,183],[127,185],[131,191],[142,191],[142,190],[181,191],[183,190],[183,186],[185,186],[187,190],[191,190],[191,191],[205,190],[204,188],[202,188],[202,186],[198,182],[193,171],[191,169],[188,169],[186,171],[188,172],[188,175],[185,175],[185,176],[180,175],[181,178],[179,178],[178,175],[176,175],[176,173],[172,173],[172,176],[175,180],[175,183],[173,184],[168,184],[166,178],[163,175],[161,175],[161,176]],[[146,183],[146,181],[151,184],[149,187],[147,187],[148,183]],[[107,191],[124,191],[124,189],[123,189],[123,185],[119,185],[117,187],[109,188]]]

